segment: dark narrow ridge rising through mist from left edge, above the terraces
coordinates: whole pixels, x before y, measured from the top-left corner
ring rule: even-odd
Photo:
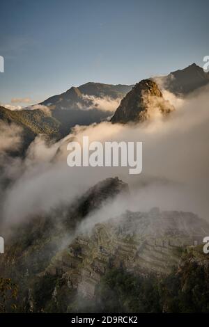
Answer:
[[[44,271],[52,257],[70,242],[77,224],[121,192],[127,192],[127,184],[117,177],[109,178],[70,205],[60,205],[48,215],[34,215],[20,223],[6,240],[6,254],[0,257],[0,276],[9,274],[17,280],[22,273],[24,279],[26,271],[30,278]]]

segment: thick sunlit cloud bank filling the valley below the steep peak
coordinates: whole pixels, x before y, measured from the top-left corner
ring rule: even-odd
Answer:
[[[130,198],[117,199],[95,219],[117,215],[118,208],[148,210],[154,206],[191,211],[208,218],[207,91],[203,88],[185,99],[165,92],[164,96],[176,107],[167,118],[157,116],[138,125],[102,122],[77,126],[72,134],[53,144],[36,138],[22,161],[24,169],[6,190],[4,220],[20,221],[50,212],[60,203],[70,203],[96,182],[115,176],[129,183]],[[128,168],[69,168],[67,144],[70,140],[82,141],[82,136],[100,142],[142,141],[141,175],[128,175]]]

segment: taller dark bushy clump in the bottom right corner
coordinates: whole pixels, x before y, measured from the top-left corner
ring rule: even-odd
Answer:
[[[186,260],[162,281],[160,296],[166,312],[209,312],[208,266]]]

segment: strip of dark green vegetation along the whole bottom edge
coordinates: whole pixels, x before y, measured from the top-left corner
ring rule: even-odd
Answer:
[[[33,280],[20,278],[17,312],[209,312],[208,274],[208,266],[192,260],[191,254],[169,276],[113,268],[102,276],[89,301],[68,287],[61,275],[45,273]],[[16,284],[1,278],[1,311],[15,310],[15,296]],[[23,298],[27,298],[24,305]]]

